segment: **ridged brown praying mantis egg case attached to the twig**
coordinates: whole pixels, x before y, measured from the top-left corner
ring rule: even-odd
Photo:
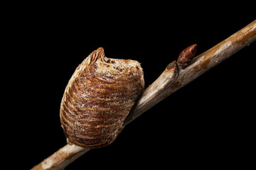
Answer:
[[[143,91],[139,62],[107,58],[102,47],[92,52],[75,70],[60,104],[68,144],[110,145]]]

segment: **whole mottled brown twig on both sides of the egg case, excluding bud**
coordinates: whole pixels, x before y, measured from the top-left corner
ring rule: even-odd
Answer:
[[[220,62],[223,62],[223,60],[255,40],[256,20],[252,21],[252,23],[231,35],[229,38],[223,40],[218,45],[210,48],[210,50],[195,57],[186,69],[178,71],[176,63],[170,63],[160,77],[144,91],[142,97],[127,116],[127,119],[124,120],[124,125],[132,122],[132,120],[142,115],[142,113],[149,110],[149,108],[156,105],[156,103],[159,103],[167,96],[173,94],[181,87],[215,67],[215,65]],[[75,145],[65,145],[50,157],[44,159],[43,162],[34,166],[31,170],[64,169],[65,166],[68,166],[68,164],[72,163],[89,150],[90,149],[77,147]]]

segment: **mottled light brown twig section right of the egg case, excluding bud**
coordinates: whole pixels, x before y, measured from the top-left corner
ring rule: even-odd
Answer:
[[[166,81],[165,79],[167,79],[167,77],[170,79],[174,77],[174,72],[167,72],[168,70],[166,69],[161,76],[144,91],[142,98],[139,99],[137,105],[134,106],[132,112],[127,116],[126,122],[130,123],[149,108],[156,105],[156,103],[159,103],[167,96],[173,94],[181,87],[193,81],[212,67],[215,67],[220,62],[223,62],[223,60],[255,40],[256,20],[245,26],[245,28],[238,30],[237,33],[231,35],[229,38],[218,43],[218,45],[210,48],[210,50],[195,57],[190,66],[186,67],[186,69],[180,69],[176,80],[174,82],[169,81],[169,86],[165,85],[168,86],[168,88],[163,89],[161,82]],[[156,84],[157,86],[155,86]],[[161,93],[159,93],[159,91],[161,91]]]

